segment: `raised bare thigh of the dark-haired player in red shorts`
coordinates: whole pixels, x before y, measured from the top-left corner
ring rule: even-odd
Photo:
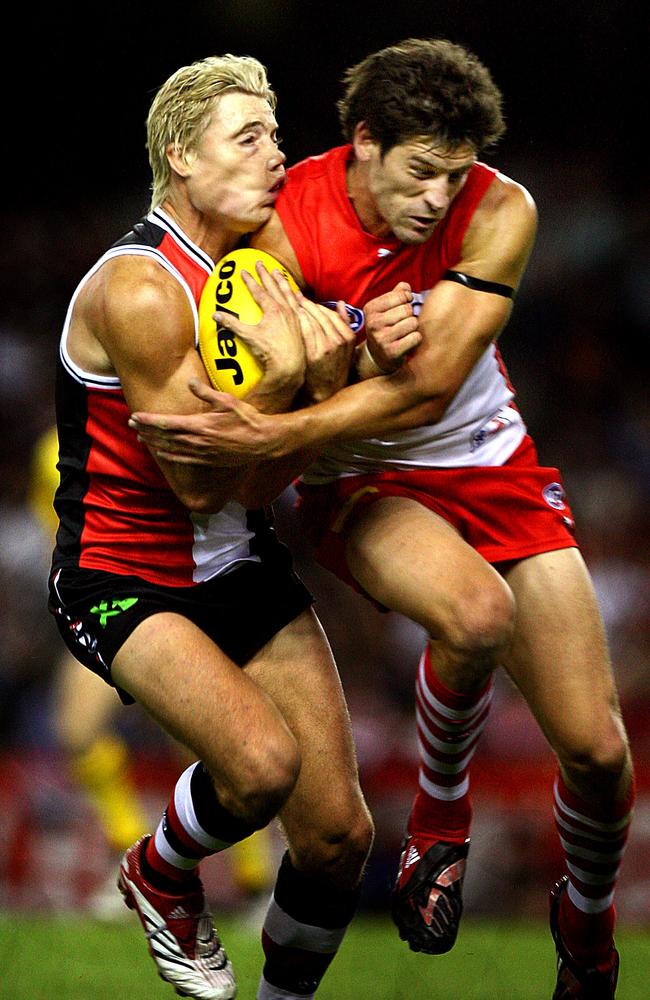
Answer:
[[[352,521],[350,572],[371,597],[436,637],[469,622],[508,619],[500,575],[444,518],[406,497],[384,497]]]

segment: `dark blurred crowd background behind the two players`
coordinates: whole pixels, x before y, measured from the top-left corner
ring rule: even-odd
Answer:
[[[45,609],[51,536],[31,489],[34,448],[54,416],[69,297],[147,209],[144,121],[153,93],[205,55],[257,56],[278,93],[291,163],[340,141],[335,102],[346,66],[400,38],[428,35],[469,45],[491,68],[509,128],[486,159],[524,183],[539,207],[537,247],[501,349],[542,462],[563,472],[600,597],[640,789],[619,912],[650,923],[646,6],[224,0],[182,10],[115,2],[96,13],[87,23],[74,5],[30,6],[4,32],[0,907],[90,906],[114,863],[115,845],[56,735],[63,647]],[[316,594],[343,675],[378,828],[365,904],[381,908],[415,787],[413,681],[424,636],[319,571],[291,506],[288,491],[278,527]],[[128,780],[153,821],[183,765],[137,708],[116,719]],[[474,770],[468,907],[541,913],[559,865],[553,763],[504,678]],[[259,852],[277,849],[272,835]],[[258,862],[261,873],[246,881],[220,858],[208,878],[215,900],[234,906],[264,890]],[[54,868],[61,876],[53,880]]]

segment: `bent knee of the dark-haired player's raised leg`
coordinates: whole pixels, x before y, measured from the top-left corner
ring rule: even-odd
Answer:
[[[514,596],[498,578],[464,595],[452,608],[443,639],[458,659],[488,660],[496,665],[512,638],[514,624]]]

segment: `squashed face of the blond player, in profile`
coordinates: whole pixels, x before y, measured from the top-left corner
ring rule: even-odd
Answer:
[[[224,94],[190,154],[192,204],[220,227],[253,232],[271,216],[284,183],[285,159],[268,101],[238,91]]]

